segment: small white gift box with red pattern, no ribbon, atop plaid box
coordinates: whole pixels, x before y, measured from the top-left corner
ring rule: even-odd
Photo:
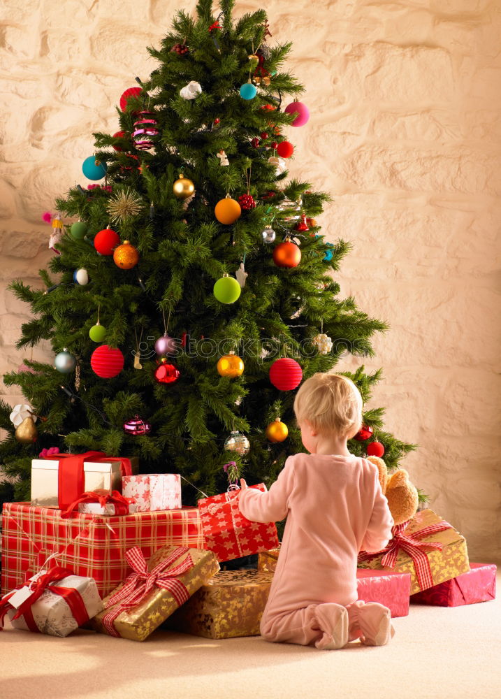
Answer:
[[[177,510],[181,507],[181,476],[179,473],[124,476],[122,493],[136,500],[138,512]]]

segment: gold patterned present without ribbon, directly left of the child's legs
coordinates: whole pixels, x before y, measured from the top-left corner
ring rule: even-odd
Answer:
[[[169,617],[166,628],[206,638],[259,636],[273,575],[222,570]]]

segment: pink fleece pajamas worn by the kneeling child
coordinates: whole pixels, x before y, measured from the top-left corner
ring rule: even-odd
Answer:
[[[357,602],[357,555],[384,548],[393,526],[374,464],[295,454],[267,493],[242,490],[239,505],[252,521],[287,517],[263,638],[330,647],[333,629],[346,619],[340,607],[348,612],[349,640],[370,635],[381,605]]]

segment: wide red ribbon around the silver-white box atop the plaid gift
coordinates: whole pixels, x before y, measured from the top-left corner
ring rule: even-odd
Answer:
[[[57,459],[57,501],[59,510],[67,510],[85,491],[84,461],[120,461],[122,475],[131,475],[131,461],[125,457],[106,456],[104,452],[85,452],[85,454],[51,454],[44,459]]]

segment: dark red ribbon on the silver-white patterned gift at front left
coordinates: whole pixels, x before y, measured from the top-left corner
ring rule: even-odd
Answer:
[[[26,621],[29,630],[34,631],[34,633],[39,633],[38,626],[36,626],[33,617],[33,612],[31,611],[31,605],[36,603],[36,600],[43,595],[45,590],[50,590],[50,592],[64,598],[78,626],[82,626],[86,621],[89,621],[89,614],[87,614],[87,609],[85,608],[84,601],[78,590],[50,584],[51,582],[62,580],[68,577],[68,575],[73,575],[73,572],[67,568],[61,568],[60,565],[55,565],[50,568],[50,570],[43,573],[43,575],[39,575],[36,580],[28,582],[31,594],[24,600],[22,605],[17,607],[17,612],[14,614],[13,619],[24,617],[24,621]],[[11,609],[15,609],[15,607],[10,604],[9,600],[14,595],[15,591],[20,589],[22,589],[22,586],[8,593],[8,595],[3,597],[0,601],[0,630],[3,630],[3,621],[7,612]]]

